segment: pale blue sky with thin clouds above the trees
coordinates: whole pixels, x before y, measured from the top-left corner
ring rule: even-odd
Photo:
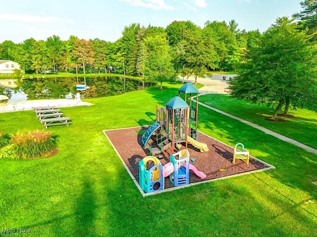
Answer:
[[[277,17],[300,12],[301,0],[5,0],[0,7],[0,42],[15,43],[57,35],[114,42],[124,26],[166,27],[191,20],[204,27],[210,21],[234,19],[240,29],[261,32]]]

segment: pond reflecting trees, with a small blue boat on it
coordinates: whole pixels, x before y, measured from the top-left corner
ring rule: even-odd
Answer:
[[[154,85],[155,82],[145,82],[144,88]],[[76,93],[80,93],[81,98],[97,98],[141,89],[142,81],[122,77],[0,79],[0,94],[9,97],[9,103],[37,99],[71,99]]]

